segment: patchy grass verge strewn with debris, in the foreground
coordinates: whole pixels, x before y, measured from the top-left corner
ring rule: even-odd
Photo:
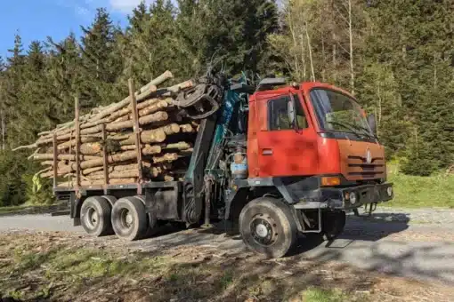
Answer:
[[[87,300],[116,300],[121,295],[130,301],[143,297],[150,301],[243,301],[251,297],[265,301],[353,301],[342,289],[322,290],[325,282],[316,281],[317,287],[313,287],[311,280],[317,278],[304,267],[304,273],[288,276],[276,274],[285,265],[263,266],[257,258],[212,257],[205,256],[209,252],[203,249],[187,248],[150,255],[99,249],[86,246],[83,240],[76,235],[1,235],[0,300],[72,300],[89,292],[92,296],[85,297]],[[308,280],[302,282],[302,275]]]

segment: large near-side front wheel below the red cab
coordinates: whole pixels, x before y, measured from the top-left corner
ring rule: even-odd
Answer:
[[[270,258],[285,256],[297,238],[296,222],[288,206],[269,197],[246,204],[239,214],[239,232],[249,249]]]

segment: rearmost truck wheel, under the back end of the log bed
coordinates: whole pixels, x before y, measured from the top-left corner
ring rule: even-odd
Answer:
[[[97,237],[111,234],[110,204],[100,196],[88,197],[82,203],[80,221],[87,234]]]

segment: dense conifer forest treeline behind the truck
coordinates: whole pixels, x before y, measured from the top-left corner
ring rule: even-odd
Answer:
[[[430,175],[454,164],[453,0],[157,0],[119,28],[100,8],[82,36],[12,41],[0,58],[0,205],[49,200],[27,151],[74,117],[166,69],[174,82],[208,66],[228,75],[334,83],[377,115],[388,158]],[[57,26],[57,25],[56,25]]]

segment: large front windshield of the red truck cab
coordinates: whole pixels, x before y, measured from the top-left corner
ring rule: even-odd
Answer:
[[[320,129],[373,135],[361,107],[345,94],[314,89],[311,91],[311,102],[317,114]]]

